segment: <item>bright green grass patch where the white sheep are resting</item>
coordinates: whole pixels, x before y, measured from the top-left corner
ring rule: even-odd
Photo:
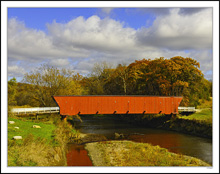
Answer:
[[[11,140],[14,136],[22,136],[26,138],[29,134],[32,134],[35,138],[44,138],[47,142],[50,142],[52,137],[52,132],[55,129],[54,124],[46,124],[43,122],[35,123],[33,121],[24,121],[17,118],[9,117],[8,121],[14,121],[15,124],[8,123],[8,139]],[[39,125],[41,128],[33,128],[33,125]],[[19,127],[19,129],[15,129]]]

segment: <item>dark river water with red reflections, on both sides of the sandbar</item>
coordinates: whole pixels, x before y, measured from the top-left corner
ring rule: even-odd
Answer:
[[[83,122],[76,121],[75,128],[81,133],[104,135],[115,140],[121,134],[126,140],[150,143],[168,149],[170,152],[199,158],[212,164],[212,140],[179,132],[152,129],[131,125],[116,116],[81,116]],[[68,145],[68,166],[92,166],[83,145]]]

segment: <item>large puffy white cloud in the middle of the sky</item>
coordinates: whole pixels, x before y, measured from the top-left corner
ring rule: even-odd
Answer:
[[[53,43],[61,43],[64,47],[112,52],[135,46],[135,30],[123,28],[122,23],[109,18],[101,20],[91,16],[86,20],[80,16],[67,24],[54,21],[47,27]]]

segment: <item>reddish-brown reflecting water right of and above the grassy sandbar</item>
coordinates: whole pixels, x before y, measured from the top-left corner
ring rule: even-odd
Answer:
[[[184,134],[145,134],[130,135],[129,139],[135,142],[150,143],[168,149],[170,152],[185,154],[202,159],[212,164],[211,140]]]

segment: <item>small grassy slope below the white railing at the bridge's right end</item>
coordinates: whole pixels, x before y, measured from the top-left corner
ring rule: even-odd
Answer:
[[[200,112],[196,112],[189,116],[179,115],[179,118],[188,119],[188,120],[205,121],[207,123],[212,123],[212,109],[203,109]]]

